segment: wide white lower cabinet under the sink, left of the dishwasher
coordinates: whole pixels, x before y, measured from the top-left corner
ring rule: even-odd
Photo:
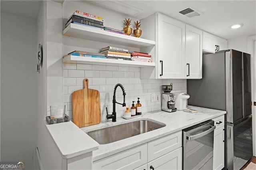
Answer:
[[[93,162],[94,170],[180,170],[182,131]]]

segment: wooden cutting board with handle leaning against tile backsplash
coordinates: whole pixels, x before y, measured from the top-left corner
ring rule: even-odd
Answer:
[[[74,91],[73,101],[73,122],[78,127],[87,127],[99,124],[100,113],[100,92],[88,89],[88,79],[84,79],[84,89]]]

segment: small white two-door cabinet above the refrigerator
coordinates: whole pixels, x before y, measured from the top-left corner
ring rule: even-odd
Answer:
[[[227,40],[219,38],[208,32],[203,32],[203,51],[206,53],[215,53],[227,49]]]

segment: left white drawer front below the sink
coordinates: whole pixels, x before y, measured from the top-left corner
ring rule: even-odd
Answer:
[[[93,162],[94,170],[132,170],[146,164],[148,157],[147,144],[108,156]]]

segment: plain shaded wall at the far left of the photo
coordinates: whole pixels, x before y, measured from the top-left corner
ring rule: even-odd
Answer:
[[[37,141],[36,40],[36,20],[1,13],[1,161],[26,169]]]

